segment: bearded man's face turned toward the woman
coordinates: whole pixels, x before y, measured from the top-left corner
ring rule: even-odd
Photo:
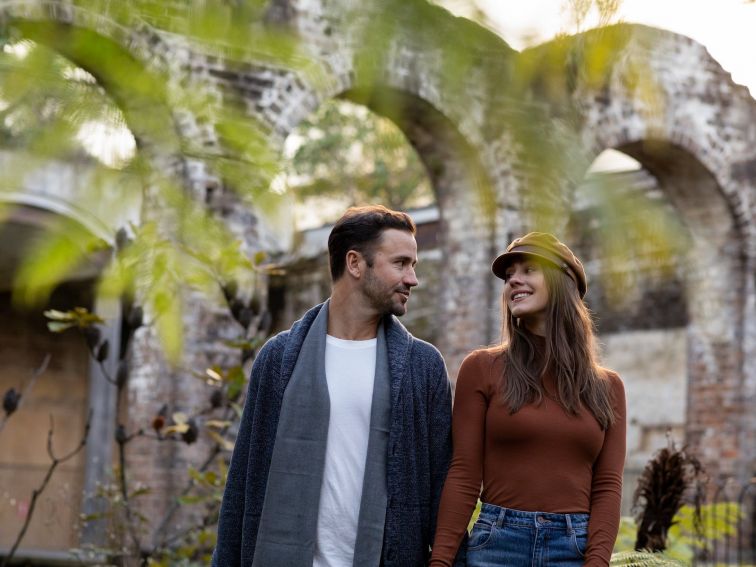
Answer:
[[[407,312],[410,290],[417,285],[417,242],[408,231],[389,228],[373,251],[373,265],[362,280],[362,293],[381,314]]]

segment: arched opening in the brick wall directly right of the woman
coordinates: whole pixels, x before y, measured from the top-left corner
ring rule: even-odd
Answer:
[[[615,196],[610,192],[622,203],[607,202]],[[627,394],[623,510],[629,513],[646,462],[666,446],[668,433],[678,442],[684,438],[687,310],[678,256],[683,250],[668,250],[649,233],[643,217],[654,211],[674,219],[675,211],[660,180],[627,153],[599,154],[574,203],[569,233],[578,255],[587,259],[586,302],[595,315],[602,362],[619,372]]]

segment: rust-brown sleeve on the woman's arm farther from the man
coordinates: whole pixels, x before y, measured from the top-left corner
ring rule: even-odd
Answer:
[[[620,522],[627,409],[622,380],[614,372],[609,372],[608,378],[611,382],[615,421],[606,430],[601,452],[593,464],[586,567],[609,565]]]

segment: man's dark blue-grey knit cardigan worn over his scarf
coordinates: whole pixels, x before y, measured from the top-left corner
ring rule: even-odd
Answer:
[[[270,339],[252,367],[218,521],[214,567],[252,565],[281,400],[317,305]],[[436,348],[384,320],[391,373],[388,509],[382,565],[427,565],[451,459],[451,390]]]

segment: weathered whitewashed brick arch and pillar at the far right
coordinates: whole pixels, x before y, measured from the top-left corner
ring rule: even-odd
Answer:
[[[756,449],[756,101],[692,39],[626,28],[606,81],[575,88],[578,136],[587,161],[616,148],[643,164],[688,228],[688,442],[714,476],[746,480]],[[638,69],[663,112],[631,86]]]

